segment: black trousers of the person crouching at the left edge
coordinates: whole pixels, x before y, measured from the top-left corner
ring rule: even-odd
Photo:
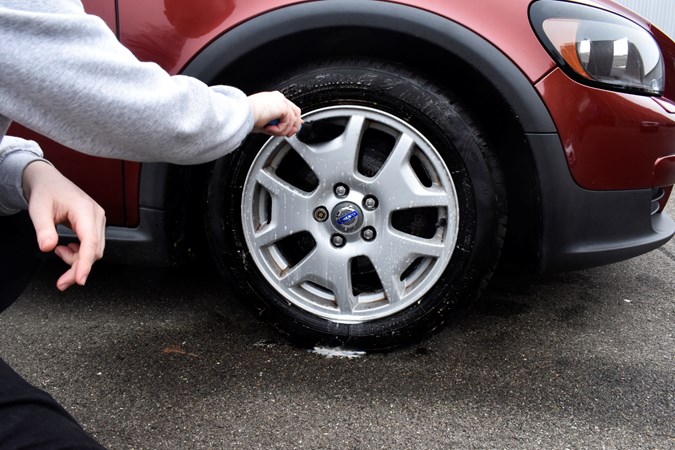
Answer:
[[[0,217],[0,312],[42,262],[27,213]],[[103,449],[52,396],[0,359],[0,450]]]

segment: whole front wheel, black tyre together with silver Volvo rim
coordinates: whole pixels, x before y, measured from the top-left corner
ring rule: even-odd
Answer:
[[[251,136],[216,162],[216,265],[302,346],[415,343],[476,298],[505,234],[497,159],[461,105],[389,63],[332,60],[277,89],[306,142]]]

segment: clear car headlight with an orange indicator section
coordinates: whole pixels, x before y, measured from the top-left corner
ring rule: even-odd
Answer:
[[[663,94],[661,50],[636,23],[602,9],[550,0],[532,4],[530,21],[553,59],[575,80],[605,89]]]

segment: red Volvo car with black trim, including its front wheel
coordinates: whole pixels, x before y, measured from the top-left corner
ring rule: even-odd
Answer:
[[[675,232],[675,43],[612,1],[84,3],[139,59],[279,89],[313,124],[190,167],[41,139],[106,209],[107,259],[210,252],[303,345],[407,344],[500,258],[581,269]]]

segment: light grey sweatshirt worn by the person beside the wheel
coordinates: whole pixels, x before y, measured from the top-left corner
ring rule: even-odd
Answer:
[[[15,121],[83,153],[198,164],[253,129],[246,95],[138,61],[79,0],[0,0],[0,214],[26,207],[35,142]]]

